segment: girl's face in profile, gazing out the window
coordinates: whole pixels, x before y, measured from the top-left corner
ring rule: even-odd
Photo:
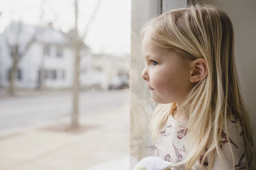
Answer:
[[[150,30],[144,36],[142,53],[146,65],[141,76],[147,82],[153,101],[159,104],[181,104],[193,88],[193,83],[189,80],[191,60],[158,47],[151,40]]]

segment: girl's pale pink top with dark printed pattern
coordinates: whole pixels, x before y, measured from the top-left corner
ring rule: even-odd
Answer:
[[[158,135],[155,154],[169,162],[179,162],[189,154],[189,148],[186,147],[185,129],[186,121],[176,121],[173,115],[170,114],[166,123],[162,126],[160,134]],[[244,138],[241,125],[237,121],[228,121],[228,135],[231,141],[231,147],[235,157],[235,167],[233,167],[233,160],[231,151],[228,145],[228,139],[225,132],[222,132],[222,139],[219,143],[222,149],[222,157],[226,161],[226,169],[247,169],[246,157],[244,152]],[[195,169],[199,169],[200,164],[204,167],[208,165],[207,159],[202,162],[202,157],[195,163]],[[184,166],[175,167],[178,170],[184,169]],[[222,163],[218,156],[215,157],[213,169],[223,169]]]

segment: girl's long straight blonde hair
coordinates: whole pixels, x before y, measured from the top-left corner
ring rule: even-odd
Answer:
[[[222,130],[228,136],[227,120],[234,118],[244,130],[248,166],[255,169],[250,121],[239,92],[235,66],[233,25],[226,12],[211,5],[191,5],[189,8],[171,10],[149,21],[142,29],[142,38],[149,28],[153,30],[151,40],[159,47],[191,60],[204,58],[208,67],[206,79],[191,89],[182,105],[188,119],[187,140],[193,143],[193,148],[186,159],[176,165],[186,165],[186,169],[191,169],[205,151],[202,162],[206,156],[211,158],[208,158],[208,169],[213,167],[215,154],[220,156],[224,165],[219,141]],[[154,140],[162,123],[175,107],[175,103],[172,103],[156,108],[149,125]],[[228,143],[231,149],[229,138]],[[231,154],[235,167],[232,149]]]

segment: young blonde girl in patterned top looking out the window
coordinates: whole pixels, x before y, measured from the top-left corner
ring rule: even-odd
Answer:
[[[162,159],[140,165],[158,169],[164,160],[171,169],[256,169],[226,12],[194,5],[162,14],[142,29],[142,51],[142,78],[161,104],[149,128]]]

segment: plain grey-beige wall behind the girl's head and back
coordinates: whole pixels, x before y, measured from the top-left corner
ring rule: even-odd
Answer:
[[[251,124],[256,131],[256,1],[209,1],[228,13],[235,32],[235,61],[242,87],[242,96],[248,106]],[[256,143],[256,133],[253,134]]]

